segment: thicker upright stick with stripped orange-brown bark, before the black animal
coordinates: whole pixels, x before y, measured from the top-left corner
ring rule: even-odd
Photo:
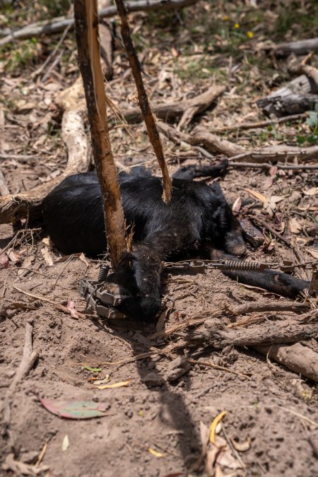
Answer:
[[[125,222],[108,132],[105,88],[100,66],[97,12],[96,0],[74,1],[78,61],[88,107],[93,157],[102,192],[110,260],[112,266],[116,266],[126,251]]]

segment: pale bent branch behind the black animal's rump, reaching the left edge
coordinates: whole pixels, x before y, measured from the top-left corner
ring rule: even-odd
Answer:
[[[77,172],[86,172],[90,165],[90,148],[81,114],[66,111],[62,119],[62,136],[66,141],[68,163],[65,172],[35,187],[29,192],[0,197],[0,223],[9,223],[18,218],[38,218],[41,215],[42,199],[61,182],[64,177]],[[73,139],[71,139],[73,137]]]

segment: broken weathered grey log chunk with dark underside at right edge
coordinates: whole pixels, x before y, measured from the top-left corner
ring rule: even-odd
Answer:
[[[318,104],[318,87],[314,79],[302,74],[266,98],[257,101],[266,116],[276,117],[301,114]]]

